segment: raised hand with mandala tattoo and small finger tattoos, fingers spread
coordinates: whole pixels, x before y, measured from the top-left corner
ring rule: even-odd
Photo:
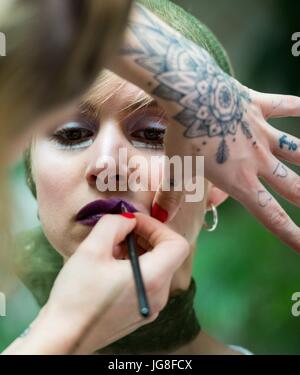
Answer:
[[[166,155],[203,155],[205,177],[240,201],[265,227],[300,251],[300,230],[259,180],[300,205],[299,140],[270,117],[300,116],[300,98],[263,94],[225,74],[202,48],[135,5],[113,70],[154,96],[171,118]],[[124,73],[126,72],[126,73]],[[164,183],[164,182],[162,182]],[[156,211],[174,217],[183,194],[157,192]]]

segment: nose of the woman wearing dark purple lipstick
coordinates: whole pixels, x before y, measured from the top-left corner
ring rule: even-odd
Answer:
[[[115,120],[101,124],[86,169],[85,177],[91,187],[100,190],[99,186],[112,186],[118,190],[127,184],[127,142]]]

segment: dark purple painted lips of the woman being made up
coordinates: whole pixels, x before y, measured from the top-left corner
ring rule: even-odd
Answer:
[[[105,214],[120,214],[121,203],[128,212],[138,211],[131,203],[123,199],[99,199],[84,206],[77,213],[75,220],[83,225],[94,226]]]

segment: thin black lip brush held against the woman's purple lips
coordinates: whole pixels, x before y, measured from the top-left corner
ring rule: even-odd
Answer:
[[[121,203],[122,213],[128,212],[127,207]],[[146,295],[144,281],[142,278],[139,258],[136,250],[136,242],[133,232],[126,236],[126,244],[128,248],[129,258],[133,270],[134,281],[136,285],[137,297],[140,306],[140,313],[143,317],[147,317],[150,314],[150,307]]]

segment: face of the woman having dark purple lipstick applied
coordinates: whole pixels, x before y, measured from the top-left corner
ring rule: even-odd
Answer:
[[[41,129],[32,145],[40,220],[48,240],[65,258],[76,251],[99,218],[78,220],[83,207],[97,200],[121,199],[150,215],[155,194],[151,189],[158,187],[161,178],[163,138],[170,126],[163,111],[139,88],[112,73],[101,82],[77,114],[50,131]],[[120,160],[120,149],[126,150],[127,160],[136,156],[146,160],[148,168],[144,165],[138,171],[140,181],[148,181],[147,191],[118,191],[118,182],[128,182],[134,173]],[[151,163],[151,156],[157,157],[155,162]],[[100,172],[108,157],[116,162],[116,173],[111,170],[110,178],[117,183],[117,191],[100,192],[99,182],[105,182],[100,181]],[[203,202],[183,203],[168,225],[192,243],[202,220]]]

